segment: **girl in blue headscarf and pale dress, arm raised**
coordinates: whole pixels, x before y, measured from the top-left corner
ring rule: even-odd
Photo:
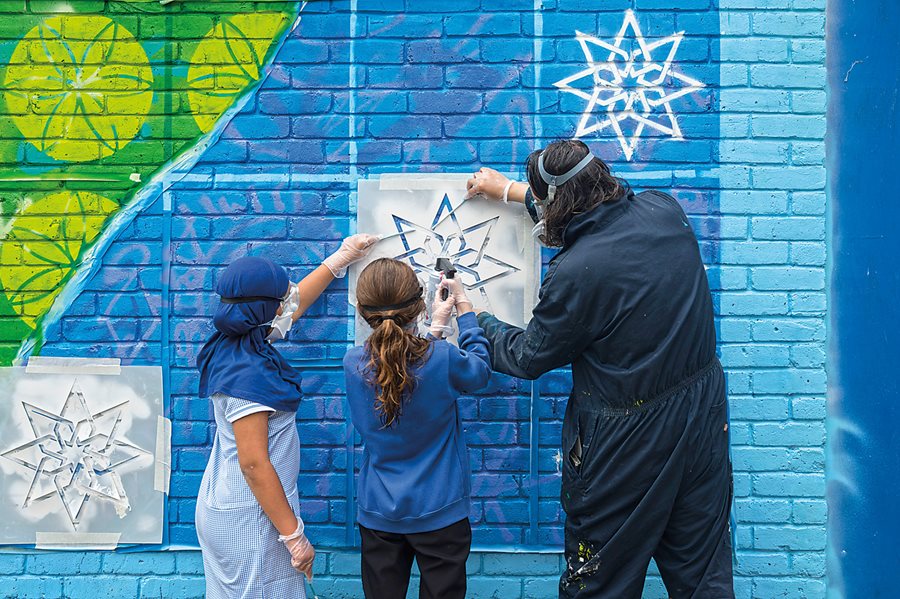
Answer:
[[[377,239],[345,239],[296,285],[258,256],[236,260],[219,279],[216,332],[197,357],[200,397],[212,399],[216,419],[196,509],[207,599],[306,597],[315,550],[297,492],[301,379],[270,341]]]

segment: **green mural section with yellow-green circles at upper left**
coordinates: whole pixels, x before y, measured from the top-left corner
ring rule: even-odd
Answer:
[[[91,246],[127,224],[115,215],[258,84],[297,10],[279,6],[294,12],[108,2],[17,18],[0,54],[0,365],[40,347]]]

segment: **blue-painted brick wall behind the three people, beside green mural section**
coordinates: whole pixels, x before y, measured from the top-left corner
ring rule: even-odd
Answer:
[[[648,37],[685,31],[677,66],[707,88],[677,103],[685,141],[641,144],[630,162],[608,131],[586,141],[636,187],[674,190],[701,237],[729,372],[738,597],[824,597],[824,0],[428,0],[360,3],[351,14],[352,5],[307,5],[260,91],[170,190],[173,214],[159,202],[140,214],[48,334],[46,355],[169,356],[168,542],[196,545],[194,502],[214,431],[193,366],[223,266],[265,253],[302,276],[354,230],[359,177],[482,163],[520,172],[532,149],[571,136],[584,109],[551,85],[584,68],[575,30],[612,40],[630,8]],[[300,490],[323,548],[355,540],[337,368],[347,311],[341,281],[285,346],[304,370]],[[463,401],[475,543],[496,550],[473,554],[472,597],[555,593],[558,554],[509,549],[560,547],[555,457],[568,387],[566,372],[540,381],[536,434],[527,384],[497,377]],[[317,567],[323,597],[361,596],[352,551],[323,551]],[[199,554],[187,550],[2,553],[0,576],[5,597],[203,590]],[[645,597],[664,596],[651,576]]]

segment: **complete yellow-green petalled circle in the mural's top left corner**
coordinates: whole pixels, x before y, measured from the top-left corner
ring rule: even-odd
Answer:
[[[7,109],[25,139],[57,160],[98,160],[122,149],[153,100],[147,54],[100,15],[51,17],[16,46]]]

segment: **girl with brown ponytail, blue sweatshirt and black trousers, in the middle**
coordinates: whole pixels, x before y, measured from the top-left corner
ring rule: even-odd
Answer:
[[[440,290],[448,297],[441,300]],[[435,294],[431,334],[416,334],[422,288],[404,262],[372,262],[356,285],[372,327],[344,358],[350,417],[365,445],[359,472],[362,582],[368,599],[404,599],[415,558],[420,599],[464,599],[470,471],[456,400],[491,376],[488,343],[458,279]],[[459,347],[442,340],[457,312]]]

